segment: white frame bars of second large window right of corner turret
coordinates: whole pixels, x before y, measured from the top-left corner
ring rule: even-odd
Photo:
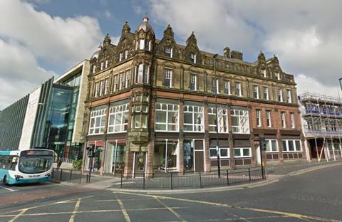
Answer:
[[[191,109],[189,109],[190,107],[191,107]],[[190,110],[192,110],[192,111],[190,111]],[[200,112],[200,111],[195,112],[195,110],[201,110],[202,112]],[[185,130],[184,129],[184,132],[204,132],[204,107],[197,106],[197,105],[184,105],[183,106],[183,115],[185,113],[191,113],[192,114],[192,123],[186,123],[185,117],[183,117],[183,126],[191,126],[192,130]],[[201,123],[195,123],[195,115],[202,115]]]

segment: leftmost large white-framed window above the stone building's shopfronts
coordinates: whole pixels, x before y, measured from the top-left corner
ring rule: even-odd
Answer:
[[[95,107],[90,112],[89,134],[102,134],[105,132],[106,107]]]

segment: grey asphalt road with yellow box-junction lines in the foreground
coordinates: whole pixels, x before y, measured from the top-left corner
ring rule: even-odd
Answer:
[[[0,185],[0,221],[341,221],[341,184],[342,166],[252,189],[197,194]]]

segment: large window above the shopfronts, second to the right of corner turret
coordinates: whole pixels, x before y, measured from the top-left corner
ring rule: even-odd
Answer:
[[[185,104],[183,115],[185,132],[204,132],[204,107],[200,106],[200,103]]]

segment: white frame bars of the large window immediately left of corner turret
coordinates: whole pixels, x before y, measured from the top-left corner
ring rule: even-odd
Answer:
[[[108,133],[120,133],[120,132],[127,132],[125,130],[125,127],[128,127],[128,118],[129,118],[129,112],[128,112],[128,104],[123,105],[113,105],[109,108],[109,117],[108,117]],[[116,118],[120,117],[120,120],[117,122]],[[125,116],[127,117],[127,122],[125,122]],[[110,125],[111,118],[114,118],[113,124]],[[115,131],[115,127],[120,127],[120,130]],[[110,130],[112,128],[113,130]]]

